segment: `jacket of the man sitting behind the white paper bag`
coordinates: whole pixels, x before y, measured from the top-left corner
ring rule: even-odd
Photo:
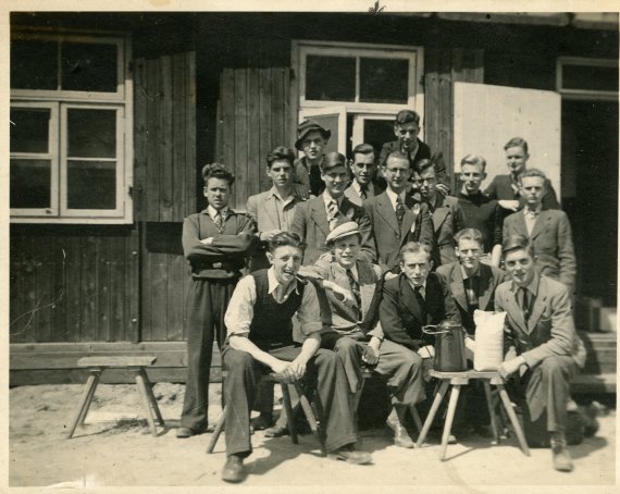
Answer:
[[[449,291],[449,296],[454,300],[458,309],[458,316],[461,323],[469,334],[475,333],[475,324],[473,322],[473,312],[467,299],[466,288],[463,285],[463,275],[460,262],[452,262],[437,268],[437,276]],[[480,310],[495,311],[495,291],[499,284],[508,279],[506,272],[494,265],[480,263],[479,285],[478,285],[478,308]]]

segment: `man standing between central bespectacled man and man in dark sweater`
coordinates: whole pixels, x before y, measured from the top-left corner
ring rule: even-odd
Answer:
[[[433,220],[433,262],[435,267],[457,260],[455,255],[455,233],[461,230],[462,214],[459,200],[452,196],[437,194],[435,163],[420,160],[413,166],[413,187],[429,207]]]

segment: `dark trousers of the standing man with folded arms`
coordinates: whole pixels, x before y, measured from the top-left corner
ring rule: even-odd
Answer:
[[[187,383],[181,427],[199,431],[208,424],[209,374],[213,342],[226,338],[224,314],[237,279],[193,280],[187,296]]]

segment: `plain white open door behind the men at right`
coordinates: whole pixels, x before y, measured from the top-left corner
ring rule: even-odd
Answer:
[[[504,145],[512,137],[522,137],[530,148],[528,165],[545,172],[560,195],[561,100],[558,92],[455,83],[454,115],[456,172],[466,155],[483,156],[487,173],[482,184],[485,188],[495,175],[509,173]]]

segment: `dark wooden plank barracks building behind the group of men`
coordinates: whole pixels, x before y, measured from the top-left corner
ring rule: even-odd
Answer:
[[[509,138],[530,143],[573,227],[581,388],[615,392],[618,41],[615,13],[13,13],[11,385],[136,353],[183,382],[201,166],[231,166],[244,209],[303,118],[348,152],[413,108],[452,189],[466,153],[489,181]]]

